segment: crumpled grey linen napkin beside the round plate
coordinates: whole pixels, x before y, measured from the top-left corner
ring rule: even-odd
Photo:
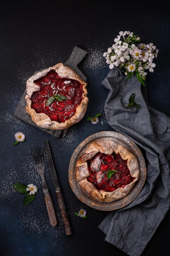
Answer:
[[[108,124],[132,139],[146,153],[146,182],[137,198],[113,211],[99,225],[105,240],[130,256],[140,256],[170,207],[170,118],[147,105],[136,76],[126,81],[118,68],[102,81]],[[142,88],[143,87],[143,88]],[[135,107],[126,108],[135,93]]]

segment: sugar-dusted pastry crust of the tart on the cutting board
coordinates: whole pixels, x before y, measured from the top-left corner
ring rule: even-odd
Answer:
[[[66,120],[63,123],[59,123],[57,121],[52,121],[48,115],[44,113],[36,113],[33,108],[31,108],[31,96],[33,92],[36,92],[39,90],[39,85],[35,84],[34,81],[37,79],[46,76],[48,72],[51,70],[55,70],[57,74],[61,78],[67,78],[67,79],[73,79],[77,80],[81,84],[83,84],[83,94],[82,94],[82,101],[81,103],[76,107],[76,112],[70,119]],[[70,67],[67,67],[63,65],[63,63],[58,63],[54,65],[53,67],[48,67],[45,70],[37,72],[35,75],[31,76],[26,81],[26,96],[25,99],[27,101],[26,106],[26,112],[28,112],[29,115],[31,115],[31,119],[37,126],[40,126],[42,128],[46,129],[52,129],[52,130],[64,130],[66,128],[69,128],[73,124],[78,123],[83,119],[85,112],[87,110],[87,104],[89,99],[87,98],[87,83],[85,83],[79,76],[72,70]]]

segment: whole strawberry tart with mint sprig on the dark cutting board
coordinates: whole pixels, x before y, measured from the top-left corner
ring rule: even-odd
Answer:
[[[26,81],[26,112],[37,126],[64,130],[83,119],[87,83],[70,67],[58,63]]]

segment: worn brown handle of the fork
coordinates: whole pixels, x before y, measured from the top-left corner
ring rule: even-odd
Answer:
[[[48,211],[48,216],[50,219],[50,224],[53,227],[55,227],[57,225],[57,219],[55,216],[54,207],[52,204],[50,193],[49,193],[48,189],[43,189],[43,193],[44,193],[44,198],[45,198],[46,207],[47,207],[47,211]]]

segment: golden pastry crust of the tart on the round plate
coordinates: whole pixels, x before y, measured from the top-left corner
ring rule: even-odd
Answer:
[[[96,187],[87,180],[89,176],[87,160],[94,157],[98,152],[111,155],[113,152],[120,154],[122,159],[127,160],[127,167],[134,180],[124,186],[124,188],[118,188],[112,192],[106,192],[104,190],[98,190]],[[139,165],[135,155],[129,152],[127,148],[117,144],[112,139],[98,139],[97,141],[90,144],[83,154],[78,158],[76,162],[76,181],[79,183],[81,188],[85,190],[90,197],[98,202],[113,202],[118,199],[124,198],[129,194],[133,188],[135,182],[139,178]]]

